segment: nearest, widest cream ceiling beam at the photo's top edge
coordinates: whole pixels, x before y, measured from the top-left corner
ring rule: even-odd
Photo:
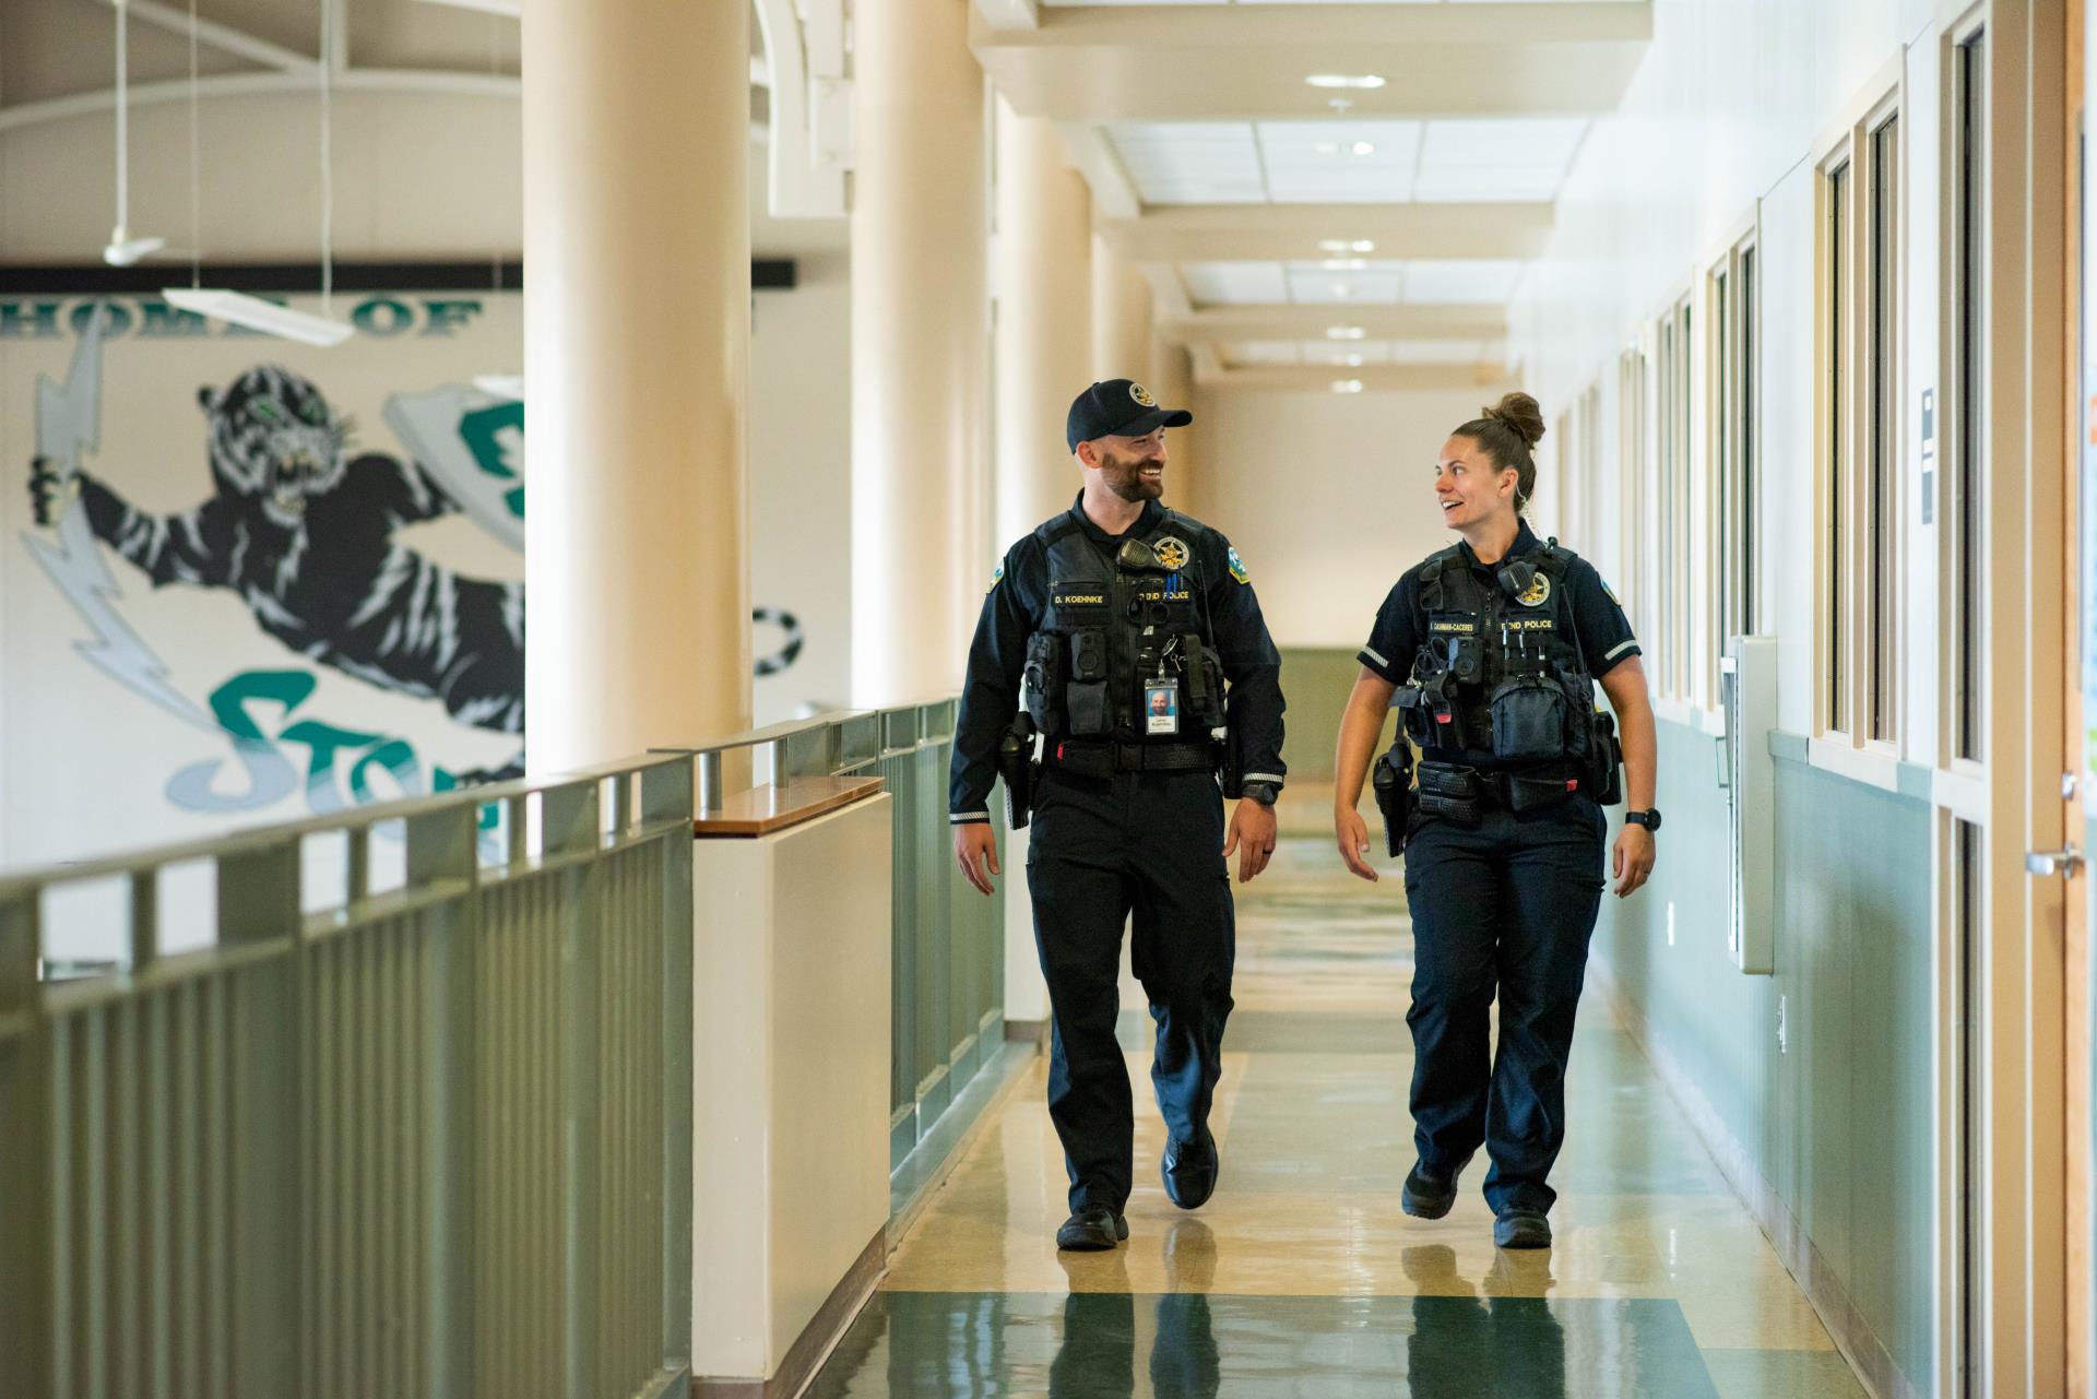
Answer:
[[[981,4],[981,0],[979,0]],[[1615,111],[1652,40],[1648,0],[1548,4],[1048,6],[969,15],[1013,111],[1055,122],[1256,122]],[[1374,73],[1332,92],[1311,73]]]

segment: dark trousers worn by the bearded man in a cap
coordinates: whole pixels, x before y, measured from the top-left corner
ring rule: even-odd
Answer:
[[[1086,778],[1048,766],[1028,845],[1034,942],[1048,980],[1048,1118],[1069,1208],[1128,1204],[1134,1105],[1114,1038],[1122,927],[1151,1003],[1151,1086],[1176,1141],[1208,1122],[1231,1015],[1237,923],[1223,860],[1223,795],[1208,772]]]

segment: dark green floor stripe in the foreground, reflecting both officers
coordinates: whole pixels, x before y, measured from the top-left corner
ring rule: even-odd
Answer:
[[[1665,1298],[881,1292],[812,1399],[1724,1399]]]

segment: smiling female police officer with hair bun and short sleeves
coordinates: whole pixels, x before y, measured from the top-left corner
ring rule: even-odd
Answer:
[[[1392,701],[1420,749],[1405,831],[1413,914],[1413,1141],[1407,1214],[1441,1219],[1485,1143],[1493,1242],[1543,1248],[1564,1141],[1564,1070],[1587,938],[1602,898],[1602,799],[1617,778],[1602,682],[1623,726],[1629,812],[1617,896],[1652,870],[1655,736],[1646,675],[1623,608],[1600,575],[1522,520],[1543,417],[1508,394],[1443,445],[1434,497],[1462,535],[1399,579],[1361,648],[1340,722],[1334,828],[1363,879],[1355,803]],[[1403,749],[1395,749],[1401,755]],[[1499,1055],[1489,1007],[1499,992]]]

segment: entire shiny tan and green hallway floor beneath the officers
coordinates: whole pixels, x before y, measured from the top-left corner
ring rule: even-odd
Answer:
[[[1581,1007],[1556,1246],[1493,1248],[1483,1170],[1443,1221],[1411,1166],[1403,887],[1292,837],[1239,891],[1223,1179],[1158,1185],[1145,1026],[1128,1242],[1057,1254],[1063,1162],[1042,1070],[1007,1099],[889,1258],[809,1395],[1055,1399],[1852,1399],[1826,1328],[1631,1040]]]

